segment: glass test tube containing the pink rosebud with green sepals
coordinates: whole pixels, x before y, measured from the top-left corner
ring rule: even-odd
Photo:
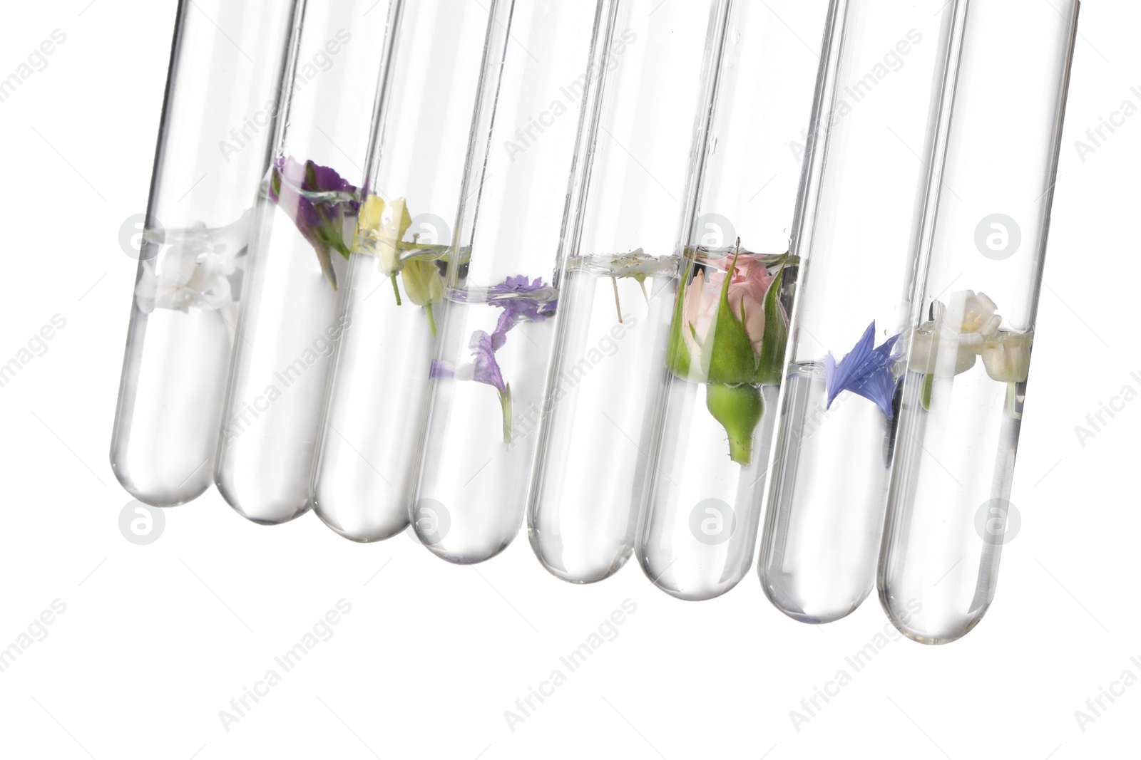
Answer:
[[[662,590],[725,594],[760,520],[795,281],[787,256],[828,5],[729,3],[686,220],[637,553]],[[738,240],[739,238],[739,246]]]

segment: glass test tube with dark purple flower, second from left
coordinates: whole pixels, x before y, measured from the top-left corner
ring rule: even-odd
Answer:
[[[215,482],[261,524],[310,505],[325,373],[345,327],[337,288],[387,51],[385,7],[374,6],[307,0],[258,197]]]

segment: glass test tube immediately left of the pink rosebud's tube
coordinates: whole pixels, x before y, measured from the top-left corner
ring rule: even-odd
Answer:
[[[572,582],[607,578],[633,549],[707,113],[703,56],[720,48],[727,5],[617,0],[600,40],[527,520],[543,566]]]

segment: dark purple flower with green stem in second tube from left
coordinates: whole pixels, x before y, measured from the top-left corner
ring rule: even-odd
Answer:
[[[329,166],[311,161],[298,163],[293,156],[277,157],[270,167],[269,199],[285,212],[301,236],[317,252],[321,270],[329,284],[337,287],[331,251],[348,259],[345,243],[345,219],[355,216],[361,207],[357,188]],[[327,194],[327,197],[321,197]]]

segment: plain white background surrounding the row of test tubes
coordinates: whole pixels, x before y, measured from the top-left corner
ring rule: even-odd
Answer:
[[[1141,105],[1139,3],[1083,7],[1012,495],[1022,530],[995,604],[961,641],[896,640],[859,672],[844,657],[891,630],[875,598],[808,627],[754,573],[701,604],[633,563],[573,587],[525,537],[458,567],[311,515],[260,528],[215,491],[167,510],[155,544],[124,540],[106,452],[136,263],[118,237],[146,204],[175,5],[6,2],[0,24],[0,76],[67,35],[0,103],[0,361],[54,314],[67,322],[0,389],[0,648],[66,605],[0,672],[0,757],[1138,757],[1141,685],[1084,732],[1074,713],[1124,670],[1141,677],[1141,401],[1084,446],[1075,426],[1141,390],[1141,114],[1084,161],[1074,142]],[[219,711],[342,598],[332,638],[227,732]],[[624,599],[637,612],[617,638],[512,732],[504,711],[566,672],[559,656]],[[794,728],[790,711],[840,669],[851,683]]]

